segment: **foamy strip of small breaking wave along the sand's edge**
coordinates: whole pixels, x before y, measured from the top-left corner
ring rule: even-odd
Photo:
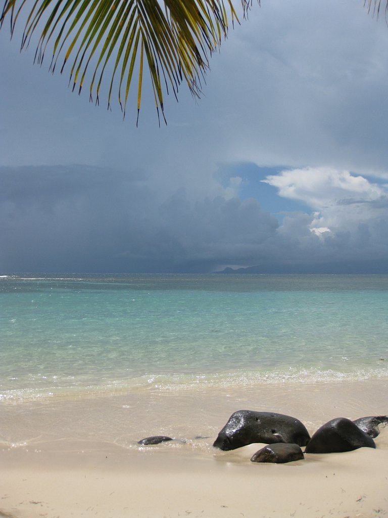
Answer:
[[[333,366],[332,366],[333,367]],[[185,393],[187,391],[244,391],[246,387],[269,386],[275,390],[281,386],[317,385],[343,382],[359,382],[388,379],[388,366],[385,358],[364,358],[362,365],[348,368],[329,368],[317,366],[277,366],[274,369],[236,369],[202,373],[146,373],[142,376],[121,379],[88,380],[83,384],[49,384],[47,379],[22,380],[21,386],[12,387],[3,383],[0,387],[0,404],[28,404],[41,400],[63,400],[81,398],[104,398],[123,396],[132,392],[154,391],[157,393]],[[54,380],[51,380],[52,383]],[[68,380],[66,380],[68,381]]]

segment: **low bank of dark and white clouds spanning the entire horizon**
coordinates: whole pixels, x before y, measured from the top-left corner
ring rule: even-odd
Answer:
[[[309,186],[303,175],[311,178]],[[311,212],[289,212],[280,222],[258,199],[240,199],[238,190],[233,197],[195,199],[178,189],[161,198],[141,174],[3,166],[0,270],[210,272],[265,264],[275,271],[295,265],[346,271],[348,264],[354,271],[358,264],[362,271],[388,272],[384,184],[327,169],[282,171],[266,182]]]

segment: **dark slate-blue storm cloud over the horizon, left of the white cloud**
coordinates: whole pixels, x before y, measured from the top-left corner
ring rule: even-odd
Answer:
[[[277,220],[256,200],[163,203],[139,175],[92,167],[2,167],[7,271],[211,269],[251,258]]]

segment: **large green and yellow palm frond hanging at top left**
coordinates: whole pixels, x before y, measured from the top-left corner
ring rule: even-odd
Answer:
[[[228,17],[232,24],[238,21],[232,1],[5,0],[0,28],[8,17],[12,35],[21,12],[26,11],[21,49],[27,48],[38,33],[37,63],[43,63],[50,45],[52,72],[61,62],[62,73],[71,57],[70,83],[79,93],[92,67],[89,98],[92,100],[95,95],[96,104],[103,77],[109,70],[108,108],[117,75],[118,103],[124,115],[137,69],[139,117],[146,63],[156,109],[158,113],[161,110],[164,118],[163,93],[169,93],[169,87],[176,97],[184,82],[192,95],[201,95],[201,78],[208,69],[209,57],[227,36]],[[240,1],[245,17],[251,0]]]

